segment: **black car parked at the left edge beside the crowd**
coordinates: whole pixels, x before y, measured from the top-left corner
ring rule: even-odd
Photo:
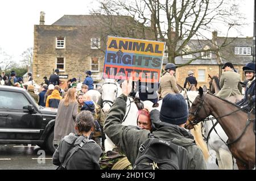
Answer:
[[[54,153],[56,113],[39,106],[25,89],[0,86],[0,144],[37,144]]]

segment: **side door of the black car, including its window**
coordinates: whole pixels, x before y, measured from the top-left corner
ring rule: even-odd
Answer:
[[[38,140],[40,113],[23,110],[33,104],[24,91],[0,91],[0,140]]]

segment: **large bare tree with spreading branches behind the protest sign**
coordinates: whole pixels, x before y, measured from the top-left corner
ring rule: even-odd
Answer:
[[[212,52],[218,50],[230,42],[224,41],[216,45],[215,40],[209,36],[213,31],[218,31],[220,24],[226,27],[226,37],[232,28],[241,26],[243,20],[239,12],[237,1],[230,0],[100,0],[100,9],[94,9],[97,14],[104,14],[104,20],[100,22],[105,35],[129,36],[142,39],[160,40],[166,42],[168,62],[174,63],[175,57],[192,54],[193,58],[200,52]],[[133,23],[127,20],[126,28],[120,28],[118,16],[129,16],[135,19]],[[148,31],[150,28],[150,31]],[[103,33],[102,33],[103,35]],[[210,46],[187,50],[186,46],[192,39],[198,41],[209,40]],[[200,41],[203,42],[203,41]],[[187,65],[184,64],[184,65]]]

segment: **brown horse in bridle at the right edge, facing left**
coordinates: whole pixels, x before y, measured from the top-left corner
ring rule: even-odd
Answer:
[[[255,133],[253,124],[255,115],[243,111],[228,100],[204,92],[199,88],[199,95],[189,108],[187,129],[213,115],[228,136],[229,150],[237,159],[239,169],[253,169],[255,165]],[[254,123],[255,124],[255,123]]]

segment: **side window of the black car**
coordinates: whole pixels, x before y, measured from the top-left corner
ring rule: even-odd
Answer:
[[[22,93],[0,91],[0,109],[22,110],[28,104],[30,102]]]

